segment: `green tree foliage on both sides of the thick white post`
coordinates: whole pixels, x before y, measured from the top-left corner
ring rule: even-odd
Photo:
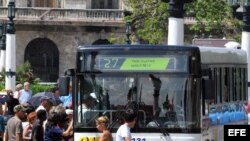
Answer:
[[[169,4],[162,0],[128,0],[132,14],[125,17],[132,20],[133,36],[150,44],[166,40],[168,30]],[[218,37],[237,38],[241,32],[238,20],[226,0],[193,0],[185,4],[185,16],[194,16],[196,23],[187,26],[193,34],[214,34]]]

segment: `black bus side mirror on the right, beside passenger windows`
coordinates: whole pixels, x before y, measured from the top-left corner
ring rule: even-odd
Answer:
[[[214,80],[204,80],[202,83],[202,93],[205,99],[215,99]]]

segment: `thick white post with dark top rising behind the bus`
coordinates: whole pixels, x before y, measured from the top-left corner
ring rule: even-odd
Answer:
[[[168,45],[184,44],[184,4],[192,0],[162,0],[169,3]]]

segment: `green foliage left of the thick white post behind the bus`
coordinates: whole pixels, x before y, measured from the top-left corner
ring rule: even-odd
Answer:
[[[168,4],[157,0],[128,0],[132,13],[125,21],[132,21],[132,38],[158,44],[167,36]]]

